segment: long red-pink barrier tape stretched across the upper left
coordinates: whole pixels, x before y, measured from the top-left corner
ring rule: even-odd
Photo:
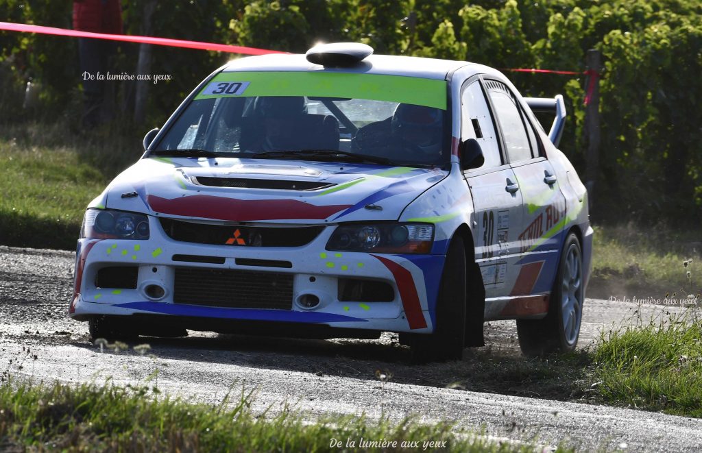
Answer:
[[[25,32],[53,34],[57,36],[73,36],[75,38],[98,38],[110,39],[111,41],[125,41],[128,43],[145,43],[156,46],[183,47],[199,50],[216,50],[218,52],[243,53],[245,55],[265,55],[267,53],[286,53],[279,50],[267,50],[253,47],[229,46],[227,44],[202,43],[199,41],[183,41],[182,39],[154,38],[153,36],[134,36],[127,34],[107,34],[93,32],[79,32],[55,27],[42,27],[41,25],[14,24],[11,22],[0,22],[0,30],[8,32]]]

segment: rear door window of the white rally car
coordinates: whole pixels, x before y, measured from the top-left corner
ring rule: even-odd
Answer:
[[[486,81],[486,86],[505,137],[505,147],[507,147],[510,162],[530,159],[532,155],[529,136],[524,128],[524,120],[519,113],[515,97],[504,83]]]

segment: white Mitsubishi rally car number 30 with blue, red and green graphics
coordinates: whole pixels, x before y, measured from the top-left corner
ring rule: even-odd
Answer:
[[[461,358],[486,320],[578,341],[585,187],[561,96],[469,62],[336,43],[234,60],[88,206],[69,314],[95,337],[400,332]],[[532,110],[552,111],[547,134]]]

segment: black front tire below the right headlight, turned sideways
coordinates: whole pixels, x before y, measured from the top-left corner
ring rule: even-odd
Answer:
[[[466,265],[463,238],[455,236],[446,253],[432,334],[413,334],[413,363],[461,360],[465,344]]]

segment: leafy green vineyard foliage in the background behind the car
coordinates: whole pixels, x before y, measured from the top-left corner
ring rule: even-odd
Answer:
[[[124,31],[145,29],[153,0],[123,1]],[[71,2],[0,0],[0,20],[71,26]],[[201,0],[161,1],[157,36],[304,52],[319,41],[361,41],[377,53],[480,62],[501,69],[584,72],[585,53],[602,52],[602,140],[593,212],[601,219],[685,219],[702,210],[702,3],[698,0]],[[121,44],[119,71],[134,73],[138,46]],[[192,87],[232,58],[154,48],[149,125],[164,121]],[[21,90],[41,86],[44,111],[76,103],[81,82],[74,39],[0,32],[1,121]],[[585,75],[509,74],[524,95],[567,98],[562,149],[584,175]],[[17,95],[19,90],[20,95]],[[133,87],[119,87],[128,116]],[[547,126],[548,127],[548,126]]]

